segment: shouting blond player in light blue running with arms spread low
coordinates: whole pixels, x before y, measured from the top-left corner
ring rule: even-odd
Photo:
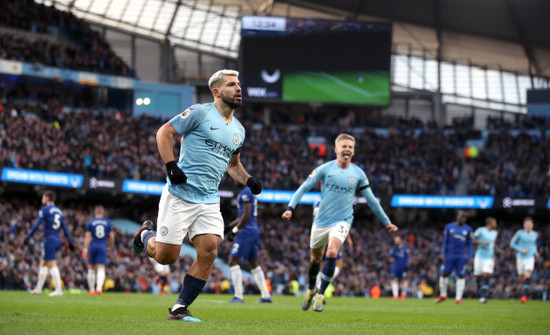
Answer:
[[[313,310],[323,311],[324,293],[334,275],[336,255],[346,240],[353,222],[353,200],[357,191],[365,197],[367,204],[386,229],[390,233],[397,231],[397,226],[390,222],[372,193],[365,172],[351,162],[355,154],[355,138],[348,134],[338,135],[334,151],[336,160],[315,168],[294,193],[287,210],[282,214],[284,220],[290,220],[294,208],[304,193],[321,182],[321,206],[311,228],[311,264],[308,273],[308,290],[302,303],[303,310],[309,309],[314,300]],[[327,260],[321,274],[321,287],[317,289],[315,281],[320,270],[323,249],[327,244]]]

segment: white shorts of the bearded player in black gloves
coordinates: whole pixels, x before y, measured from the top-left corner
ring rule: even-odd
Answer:
[[[193,204],[162,190],[157,218],[156,241],[180,245],[185,235],[214,234],[223,239],[223,218],[220,204]]]

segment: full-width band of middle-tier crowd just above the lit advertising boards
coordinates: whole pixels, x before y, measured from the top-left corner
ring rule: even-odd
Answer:
[[[0,133],[4,135],[0,165],[165,180],[155,134],[166,120],[64,108],[52,99],[34,105],[7,99],[0,106],[13,111],[0,115]],[[334,138],[350,132],[357,138],[354,162],[366,171],[376,195],[453,195],[464,166],[463,149],[472,131],[460,124],[438,129],[414,118],[389,116],[374,118],[379,122],[318,125],[306,118],[277,122],[280,115],[276,113],[275,121],[260,123],[251,114],[246,108],[237,111],[247,129],[241,161],[268,189],[296,189],[311,169],[334,158]],[[315,143],[309,138],[321,140]],[[469,163],[468,194],[550,196],[550,141],[545,136],[525,131],[512,136],[508,130],[494,129],[480,155]],[[225,177],[221,188],[232,187],[230,178]]]

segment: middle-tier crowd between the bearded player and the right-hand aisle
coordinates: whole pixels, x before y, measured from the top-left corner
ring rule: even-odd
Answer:
[[[421,123],[416,119],[381,117],[380,123],[387,131],[378,133],[374,122],[325,120],[317,125],[304,118],[252,124],[247,112],[243,112],[240,120],[248,133],[241,160],[249,164],[266,188],[297,188],[315,166],[335,157],[334,139],[339,133],[348,132],[357,139],[354,162],[366,171],[376,194],[454,193],[461,165],[456,135],[417,128]],[[280,115],[274,116],[277,117]],[[327,119],[330,117],[326,115]],[[320,137],[323,142],[312,145],[308,137]]]

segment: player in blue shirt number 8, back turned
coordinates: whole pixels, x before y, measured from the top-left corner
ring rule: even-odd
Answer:
[[[111,221],[105,218],[103,206],[97,205],[94,208],[94,215],[95,217],[86,224],[84,238],[84,253],[88,254],[88,293],[90,295],[103,293],[108,250],[115,243],[115,232]]]

